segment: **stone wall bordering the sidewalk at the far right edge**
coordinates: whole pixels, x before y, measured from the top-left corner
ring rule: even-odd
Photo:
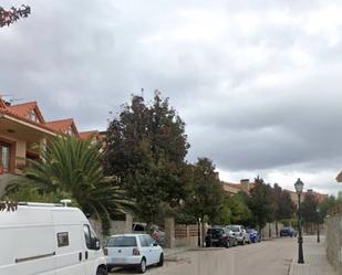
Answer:
[[[325,243],[328,261],[342,275],[342,214],[325,219]]]

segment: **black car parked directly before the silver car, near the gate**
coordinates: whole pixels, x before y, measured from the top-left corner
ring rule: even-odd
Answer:
[[[227,228],[213,228],[207,230],[206,246],[225,246],[230,247],[236,243],[230,239],[229,230]]]

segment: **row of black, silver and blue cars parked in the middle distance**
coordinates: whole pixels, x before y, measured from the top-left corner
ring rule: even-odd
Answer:
[[[207,230],[206,246],[230,247],[238,244],[256,243],[260,241],[257,230],[246,230],[243,225],[215,225]]]

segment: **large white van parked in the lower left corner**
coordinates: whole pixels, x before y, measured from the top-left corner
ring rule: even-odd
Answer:
[[[103,251],[80,209],[21,203],[0,211],[1,275],[106,275]]]

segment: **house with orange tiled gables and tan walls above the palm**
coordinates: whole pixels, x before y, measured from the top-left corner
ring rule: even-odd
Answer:
[[[46,121],[37,102],[12,105],[0,98],[0,194],[58,135],[89,136],[79,133],[72,118]]]

